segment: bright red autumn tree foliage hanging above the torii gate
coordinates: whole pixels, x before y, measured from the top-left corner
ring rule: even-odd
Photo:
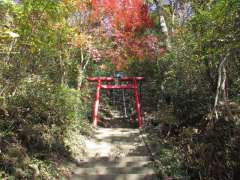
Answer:
[[[159,37],[139,33],[153,26],[144,0],[92,0],[92,8],[93,18],[107,34],[103,37],[113,37],[114,46],[104,49],[104,56],[117,70],[127,67],[129,57],[156,59],[162,53]]]

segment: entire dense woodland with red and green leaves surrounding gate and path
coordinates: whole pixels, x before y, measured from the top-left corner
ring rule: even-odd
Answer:
[[[115,71],[145,77],[146,126],[178,152],[162,174],[239,179],[239,27],[238,0],[0,0],[0,179],[67,179],[86,78]]]

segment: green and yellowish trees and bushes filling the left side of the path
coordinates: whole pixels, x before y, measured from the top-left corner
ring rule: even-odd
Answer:
[[[91,133],[88,88],[72,89],[84,65],[72,5],[0,1],[0,178],[57,178],[56,159],[72,158],[71,133]]]

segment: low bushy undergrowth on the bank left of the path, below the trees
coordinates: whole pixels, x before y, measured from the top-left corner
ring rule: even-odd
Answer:
[[[47,80],[22,82],[1,107],[1,178],[67,177],[64,163],[83,156],[83,135],[92,131],[85,101],[87,94]]]

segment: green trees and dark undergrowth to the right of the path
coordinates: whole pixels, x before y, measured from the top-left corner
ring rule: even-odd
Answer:
[[[171,52],[176,57],[174,78],[166,86],[175,91],[171,92],[180,127],[194,129],[189,132],[183,129],[180,138],[184,161],[193,178],[233,179],[238,173],[237,161],[229,156],[236,146],[231,139],[238,138],[233,134],[238,129],[236,121],[224,108],[218,120],[207,118],[214,104],[218,66],[227,52],[230,52],[227,86],[232,89],[229,97],[239,96],[235,83],[239,70],[233,66],[238,61],[239,47],[236,3],[218,1],[208,4],[208,8],[197,6],[195,16],[176,36]]]

